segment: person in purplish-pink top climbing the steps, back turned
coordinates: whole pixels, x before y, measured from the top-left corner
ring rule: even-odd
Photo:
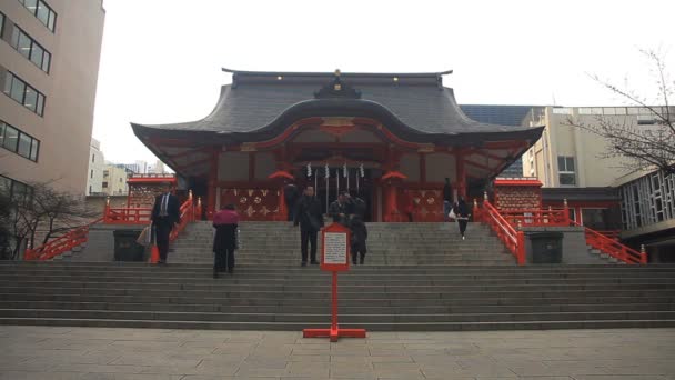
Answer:
[[[226,204],[222,210],[213,216],[213,278],[218,278],[218,272],[234,271],[234,250],[236,247],[236,228],[239,214],[234,211],[234,204]]]

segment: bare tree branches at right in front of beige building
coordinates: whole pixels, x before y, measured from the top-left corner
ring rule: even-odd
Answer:
[[[633,106],[643,107],[652,113],[654,124],[641,126],[627,118],[604,118],[598,116],[594,123],[584,123],[568,118],[566,124],[581,128],[603,137],[608,142],[608,150],[602,158],[627,158],[623,163],[626,169],[636,171],[656,167],[667,173],[675,172],[675,120],[669,98],[674,93],[675,82],[668,78],[661,54],[642,50],[651,62],[651,73],[656,80],[657,96],[649,100],[628,88],[613,84],[597,74],[591,78],[625,99]],[[653,106],[656,102],[658,106]]]

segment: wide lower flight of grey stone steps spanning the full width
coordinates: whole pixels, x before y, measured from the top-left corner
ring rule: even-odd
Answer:
[[[330,323],[318,267],[0,262],[0,323],[292,330]],[[376,266],[341,273],[340,322],[373,330],[675,327],[675,266]]]

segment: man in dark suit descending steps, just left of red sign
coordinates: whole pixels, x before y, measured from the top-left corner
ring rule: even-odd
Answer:
[[[319,264],[316,261],[316,234],[323,227],[323,214],[321,203],[314,197],[314,188],[309,186],[304,189],[304,194],[298,201],[293,218],[293,226],[300,224],[300,250],[302,253],[302,267],[308,266],[308,243],[311,246],[311,263]]]

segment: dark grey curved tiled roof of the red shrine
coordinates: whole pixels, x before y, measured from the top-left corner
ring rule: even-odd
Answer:
[[[278,76],[283,77],[278,80]],[[332,73],[255,73],[235,72],[233,83],[223,86],[213,111],[202,120],[182,123],[140,126],[135,129],[204,131],[219,134],[263,133],[284,114],[311,109],[313,116],[363,116],[369,110],[387,114],[397,121],[411,140],[415,136],[463,133],[523,132],[534,140],[538,134],[530,128],[480,122],[467,118],[455,101],[453,90],[442,86],[441,76],[432,74],[349,74],[342,82],[361,92],[361,99],[315,99],[314,92],[334,78]],[[346,112],[349,114],[339,114]],[[284,120],[288,127],[288,120]],[[511,133],[510,133],[511,132]],[[521,134],[521,133],[515,133]]]

